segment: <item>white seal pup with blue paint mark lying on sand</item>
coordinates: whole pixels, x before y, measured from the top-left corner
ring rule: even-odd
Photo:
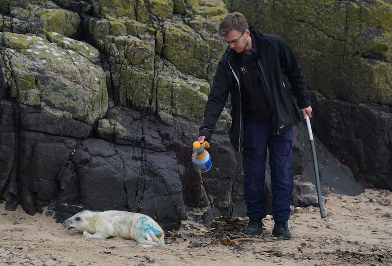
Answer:
[[[138,246],[164,246],[164,233],[151,217],[124,211],[81,211],[63,222],[66,232],[83,232],[83,238],[121,237],[136,240]]]

